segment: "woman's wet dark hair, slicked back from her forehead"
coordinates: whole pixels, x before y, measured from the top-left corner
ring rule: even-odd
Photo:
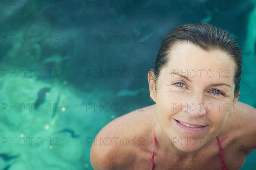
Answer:
[[[220,49],[233,58],[236,63],[234,76],[234,94],[236,98],[240,90],[239,84],[241,80],[242,66],[241,50],[236,40],[234,40],[226,30],[217,28],[208,23],[184,24],[182,26],[178,26],[167,35],[157,54],[155,68],[151,69],[154,73],[154,75],[151,75],[153,80],[155,82],[157,81],[161,69],[166,66],[168,62],[167,56],[172,47],[181,42],[193,43],[205,51]]]

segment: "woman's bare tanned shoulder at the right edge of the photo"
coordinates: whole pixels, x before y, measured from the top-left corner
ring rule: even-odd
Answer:
[[[247,155],[256,148],[256,109],[237,102],[227,127],[240,149]]]

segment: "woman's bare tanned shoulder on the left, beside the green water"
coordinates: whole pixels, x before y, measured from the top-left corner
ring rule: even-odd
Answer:
[[[135,158],[134,148],[150,133],[154,121],[154,105],[122,115],[100,130],[90,152],[94,169],[118,169],[131,164]],[[139,141],[138,141],[139,140]],[[151,140],[150,140],[151,142]]]

